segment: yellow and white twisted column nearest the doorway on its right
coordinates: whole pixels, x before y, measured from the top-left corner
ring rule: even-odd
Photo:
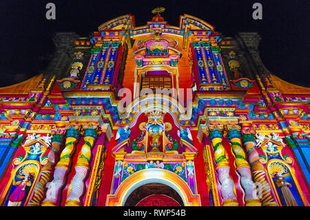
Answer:
[[[234,183],[229,176],[229,162],[225,156],[225,148],[222,145],[223,126],[218,128],[209,127],[209,139],[214,148],[214,160],[216,172],[220,181],[220,194],[223,198],[222,206],[238,206],[236,194],[234,194]]]

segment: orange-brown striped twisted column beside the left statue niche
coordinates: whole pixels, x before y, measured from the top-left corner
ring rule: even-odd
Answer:
[[[48,152],[48,162],[42,168],[39,181],[37,181],[37,184],[34,187],[34,194],[30,199],[28,206],[40,206],[41,202],[43,201],[45,197],[46,186],[52,180],[55,157],[57,157],[62,141],[63,134],[53,134],[52,150]]]

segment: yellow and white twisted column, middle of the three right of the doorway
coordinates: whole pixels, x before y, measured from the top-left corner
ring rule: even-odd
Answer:
[[[260,199],[256,195],[256,188],[251,179],[249,163],[245,160],[245,151],[241,148],[240,126],[227,126],[227,138],[235,154],[236,170],[240,174],[240,184],[245,190],[245,206],[261,206]]]

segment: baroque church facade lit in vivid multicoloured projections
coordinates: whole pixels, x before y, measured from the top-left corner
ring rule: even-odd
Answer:
[[[1,206],[308,206],[310,88],[256,32],[127,14],[0,88]]]

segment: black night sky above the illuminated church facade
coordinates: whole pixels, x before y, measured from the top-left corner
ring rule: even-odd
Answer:
[[[56,20],[45,18],[48,2],[56,5]],[[255,2],[262,4],[262,20],[252,18]],[[101,23],[124,14],[133,14],[136,26],[143,26],[158,6],[166,8],[162,16],[173,26],[178,26],[180,14],[191,14],[227,37],[237,32],[258,32],[265,66],[285,81],[310,87],[309,0],[0,0],[0,86],[18,83],[44,70],[54,52],[54,32],[88,37]]]

